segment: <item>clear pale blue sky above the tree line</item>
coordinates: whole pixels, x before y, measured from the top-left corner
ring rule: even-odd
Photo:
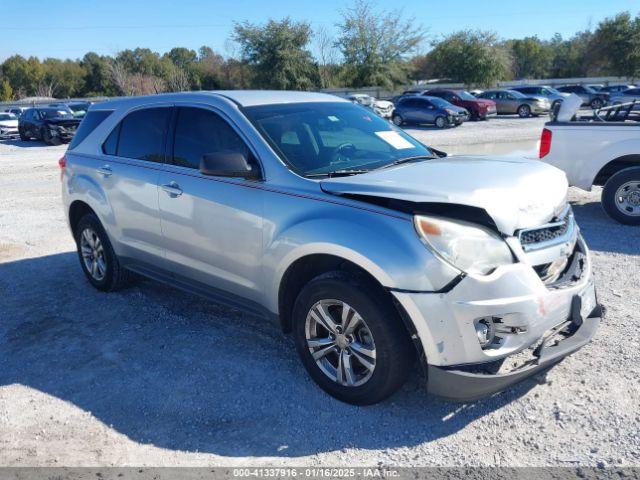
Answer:
[[[161,53],[175,46],[209,45],[232,54],[228,42],[234,21],[264,22],[290,16],[314,28],[335,29],[337,0],[0,0],[0,60],[24,56],[77,58],[88,51],[113,55],[148,47]],[[638,0],[393,0],[380,8],[400,8],[431,38],[466,28],[492,30],[504,38],[558,32],[571,36],[606,16],[640,13]]]

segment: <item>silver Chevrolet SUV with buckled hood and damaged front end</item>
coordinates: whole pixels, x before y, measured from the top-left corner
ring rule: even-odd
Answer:
[[[564,174],[442,157],[334,96],[224,91],[93,105],[60,166],[94,287],[136,272],[274,319],[370,404],[416,359],[434,394],[486,396],[600,321]]]

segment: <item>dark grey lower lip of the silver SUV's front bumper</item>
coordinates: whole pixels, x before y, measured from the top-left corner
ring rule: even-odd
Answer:
[[[576,297],[579,298],[579,297]],[[574,302],[573,312],[580,315],[579,305]],[[470,402],[491,394],[505,390],[506,388],[540,373],[560,362],[563,358],[576,352],[586,345],[595,335],[602,319],[602,307],[599,305],[584,319],[580,319],[578,326],[574,319],[568,322],[565,329],[574,328],[570,336],[556,344],[543,342],[535,352],[535,360],[514,369],[508,373],[475,373],[462,367],[438,367],[428,366],[428,391],[436,396],[458,402]]]

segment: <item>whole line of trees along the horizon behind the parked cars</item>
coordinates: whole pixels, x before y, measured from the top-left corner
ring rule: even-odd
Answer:
[[[0,65],[0,100],[243,88],[393,90],[424,79],[490,86],[520,78],[640,77],[640,15],[629,12],[566,39],[501,39],[463,30],[428,41],[427,33],[399,11],[355,0],[341,12],[335,35],[291,18],[236,23],[236,52],[227,56],[208,46],[162,55],[148,48],[114,56],[89,52],[77,60],[13,55]]]

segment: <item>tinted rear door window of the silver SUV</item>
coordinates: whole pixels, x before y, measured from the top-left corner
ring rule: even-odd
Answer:
[[[163,162],[164,142],[170,117],[169,107],[145,108],[127,115],[119,125],[116,155],[149,162]]]

